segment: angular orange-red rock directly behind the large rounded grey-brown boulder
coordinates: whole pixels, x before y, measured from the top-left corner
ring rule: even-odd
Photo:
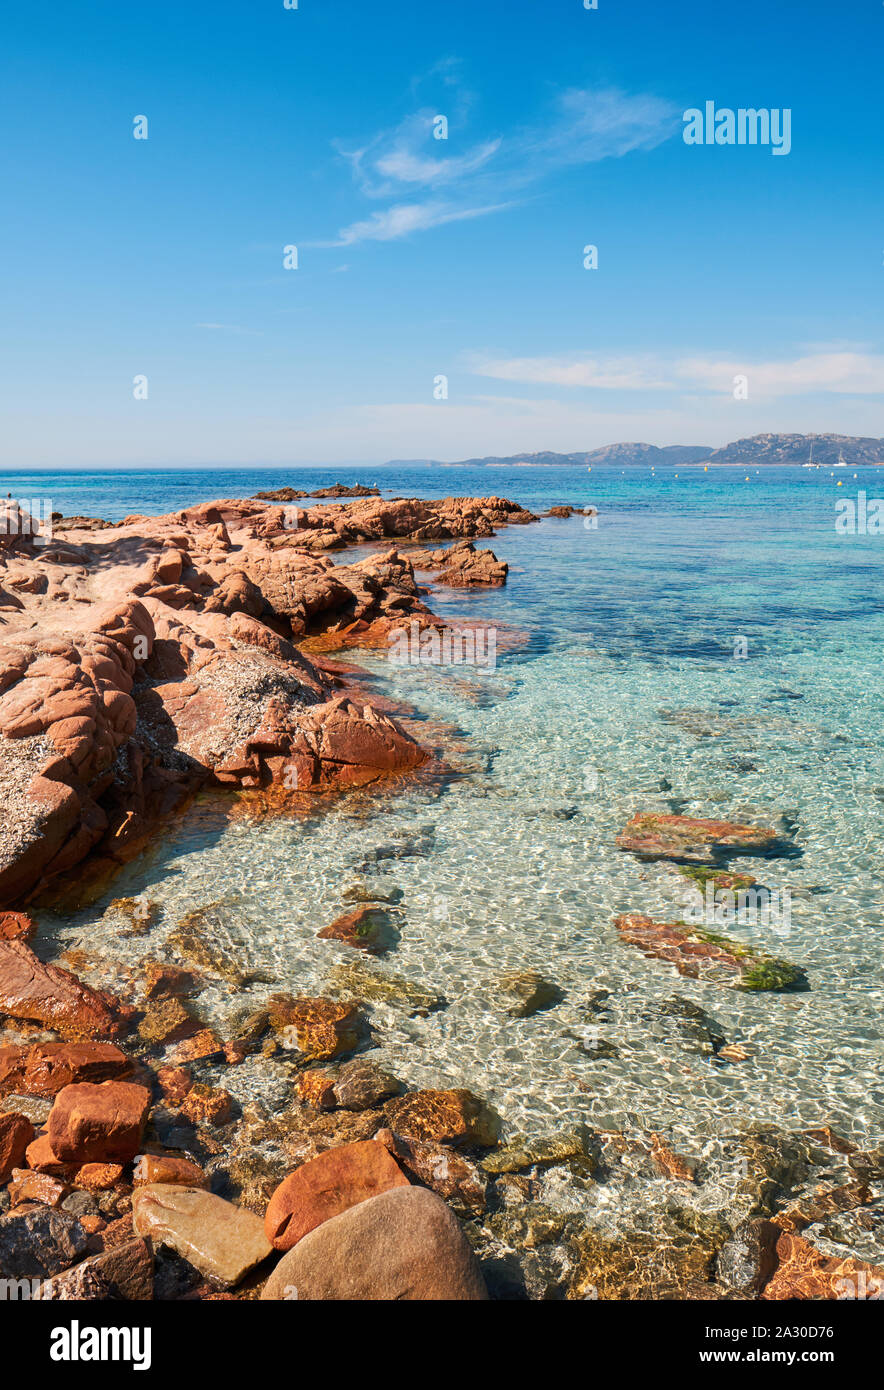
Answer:
[[[407,1186],[409,1179],[384,1144],[342,1144],[284,1179],[267,1207],[264,1232],[275,1250],[290,1250],[331,1216],[391,1187]]]

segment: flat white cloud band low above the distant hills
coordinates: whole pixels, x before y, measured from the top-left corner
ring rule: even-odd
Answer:
[[[753,396],[798,396],[808,392],[874,395],[884,392],[884,356],[821,352],[783,361],[681,357],[507,357],[474,359],[477,377],[528,385],[582,386],[596,391],[731,392],[745,375]]]

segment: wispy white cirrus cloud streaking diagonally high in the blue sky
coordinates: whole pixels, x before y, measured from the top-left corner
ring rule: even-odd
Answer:
[[[463,95],[455,99],[455,129],[466,124],[468,106]],[[334,242],[322,245],[395,240],[445,222],[499,213],[516,206],[517,196],[556,170],[655,149],[678,128],[671,103],[612,88],[562,92],[542,121],[482,139],[463,154],[449,154],[448,142],[434,139],[436,120],[438,113],[424,107],[359,149],[338,146],[360,193],[395,202],[382,213],[350,222]],[[418,192],[439,190],[443,197],[404,202]]]

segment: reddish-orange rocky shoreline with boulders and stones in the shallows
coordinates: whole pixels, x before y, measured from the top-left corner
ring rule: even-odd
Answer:
[[[407,1090],[371,1055],[373,1001],[398,983],[363,966],[395,947],[395,905],[370,887],[317,924],[352,956],[342,988],[268,984],[225,1036],[200,995],[243,976],[213,905],[158,956],[150,903],[117,899],[145,938],[118,990],[85,983],[69,954],[64,966],[40,959],[28,905],[86,869],[113,876],[196,791],[265,794],[285,813],[425,766],[427,749],[327,653],[386,646],[406,621],[442,627],[416,570],[502,584],[506,566],[473,542],[537,518],[500,498],[370,495],[293,513],[302,498],[72,518],[44,545],[0,538],[0,1284],[17,1284],[10,1297],[135,1301],[884,1289],[880,1261],[863,1258],[883,1237],[884,1151],[823,1118],[734,1126],[712,1145],[584,1125],[509,1134],[470,1090]],[[334,563],[349,545],[370,549]],[[792,852],[770,827],[653,812],[617,844],[721,885],[755,883],[731,870],[735,856]],[[808,987],[799,965],[684,922],[635,910],[616,927],[649,969]],[[531,970],[502,977],[499,994],[516,1034],[560,1002]],[[409,1006],[445,1001],[411,987]],[[739,1059],[703,1011],[682,1024],[720,1065]],[[286,1079],[282,1109],[235,1101],[225,1076],[246,1062]],[[606,1194],[605,1222],[568,1201],[581,1190]]]

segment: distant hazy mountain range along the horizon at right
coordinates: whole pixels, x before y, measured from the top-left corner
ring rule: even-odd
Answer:
[[[884,439],[860,438],[855,435],[792,435],[792,434],[763,434],[752,435],[749,439],[735,439],[721,449],[710,445],[670,443],[660,449],[653,443],[609,443],[602,449],[591,449],[587,453],[513,453],[507,457],[491,455],[485,459],[461,459],[457,467],[474,468],[506,468],[506,467],[574,467],[582,464],[591,468],[594,464],[607,467],[660,467],[680,464],[709,464],[710,467],[734,466],[764,466],[785,467],[788,464],[808,463],[810,460],[810,445],[813,445],[813,461],[821,466],[834,467],[840,457],[848,464],[884,464]],[[402,466],[439,463],[438,459],[393,459],[392,463]]]

